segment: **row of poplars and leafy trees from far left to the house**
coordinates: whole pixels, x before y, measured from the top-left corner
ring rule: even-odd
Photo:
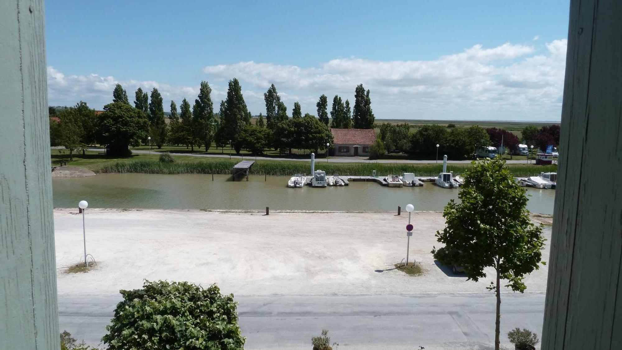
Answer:
[[[106,146],[109,154],[129,154],[129,146],[153,144],[162,148],[164,144],[185,145],[194,151],[214,144],[218,148],[231,146],[236,153],[245,149],[253,154],[262,154],[267,149],[290,153],[292,149],[318,151],[333,143],[330,128],[373,128],[374,114],[371,110],[369,90],[363,84],[355,88],[353,111],[350,102],[343,102],[335,95],[328,118],[328,102],[325,95],[317,102],[317,117],[302,115],[300,103],[295,102],[292,117],[272,84],[264,93],[266,118],[260,113],[255,125],[251,123],[251,112],[244,102],[238,79],[228,83],[225,100],[215,113],[211,100],[211,87],[203,81],[193,105],[186,98],[177,109],[175,101],[170,102],[169,123],[165,121],[162,95],[153,88],[151,95],[141,87],[134,93],[134,105],[129,102],[128,93],[120,84],[113,90],[113,101],[103,108],[103,113],[79,102],[77,105],[56,110],[50,107],[50,141],[52,145],[65,146],[72,156],[75,149],[87,145]]]

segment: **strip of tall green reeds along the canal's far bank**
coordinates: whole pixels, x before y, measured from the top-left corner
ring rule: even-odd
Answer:
[[[117,161],[105,164],[96,169],[97,173],[142,173],[142,174],[231,174],[231,168],[238,161],[210,160],[210,161],[176,161],[164,163],[151,160]],[[443,164],[405,164],[405,163],[326,163],[318,161],[315,169],[322,169],[327,174],[350,176],[371,176],[376,171],[378,176],[388,174],[414,173],[415,176],[437,176],[442,171]],[[447,164],[448,171],[461,174],[471,164]],[[515,177],[527,177],[540,174],[542,171],[557,171],[556,165],[539,166],[534,164],[508,164],[508,169]],[[310,173],[310,162],[298,161],[256,161],[251,168],[251,174],[292,176],[294,174]]]

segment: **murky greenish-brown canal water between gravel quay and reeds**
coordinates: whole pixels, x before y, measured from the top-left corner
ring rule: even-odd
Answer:
[[[265,209],[272,210],[397,210],[412,203],[415,210],[443,210],[458,189],[432,182],[422,187],[389,188],[376,182],[350,186],[292,189],[289,176],[231,176],[183,174],[100,174],[90,177],[53,177],[54,207],[77,207],[85,199],[91,208],[144,209]],[[527,209],[553,214],[554,190],[528,188]]]

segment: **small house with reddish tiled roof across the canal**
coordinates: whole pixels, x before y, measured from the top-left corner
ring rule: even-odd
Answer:
[[[333,156],[369,156],[369,146],[376,142],[373,129],[331,129]]]

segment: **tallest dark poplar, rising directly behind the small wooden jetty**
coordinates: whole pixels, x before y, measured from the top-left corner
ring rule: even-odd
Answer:
[[[246,117],[248,116],[248,108],[242,95],[242,88],[237,78],[229,80],[229,88],[227,90],[227,98],[223,110],[221,110],[221,126],[222,136],[227,140],[231,140],[236,153],[242,149],[243,143],[240,136],[241,131],[246,127]]]

